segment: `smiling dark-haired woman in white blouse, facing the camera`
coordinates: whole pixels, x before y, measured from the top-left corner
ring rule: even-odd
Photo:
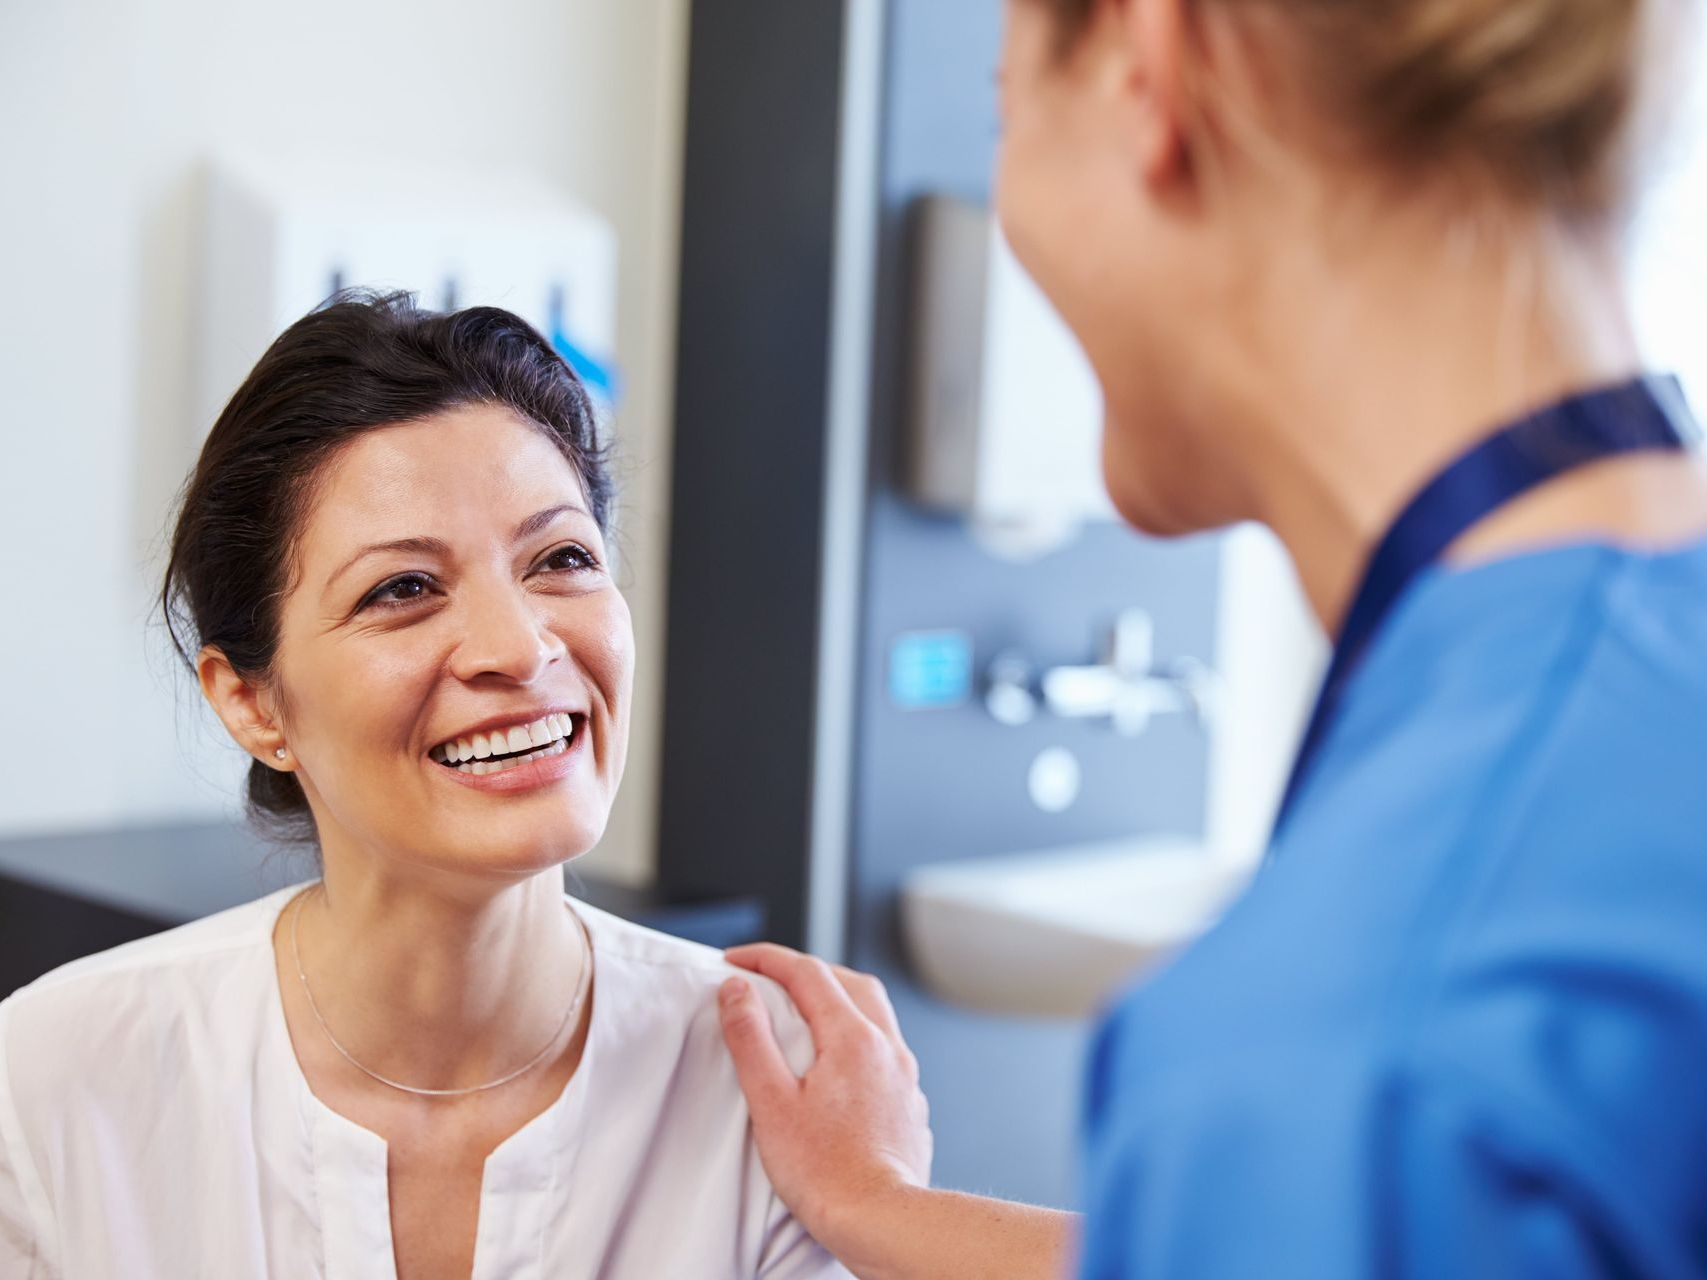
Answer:
[[[0,1004],[0,1275],[843,1275],[753,1147],[731,969],[563,894],[626,756],[609,507],[509,312],[343,297],[261,358],[160,601],[323,879]]]

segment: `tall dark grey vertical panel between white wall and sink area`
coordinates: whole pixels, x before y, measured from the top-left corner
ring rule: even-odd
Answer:
[[[659,881],[806,910],[842,5],[693,5]]]

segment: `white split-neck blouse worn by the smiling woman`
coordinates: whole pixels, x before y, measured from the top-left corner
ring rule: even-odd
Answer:
[[[0,1277],[396,1277],[386,1142],[314,1096],[285,1029],[271,934],[300,887],[0,1002]],[[575,911],[586,1051],[486,1157],[475,1280],[847,1277],[760,1166],[717,1022],[722,956]],[[804,1022],[758,986],[804,1070]]]

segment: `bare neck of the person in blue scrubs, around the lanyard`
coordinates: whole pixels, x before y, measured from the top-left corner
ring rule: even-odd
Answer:
[[[1478,229],[1480,230],[1480,229]],[[1229,457],[1335,635],[1403,507],[1497,428],[1640,370],[1606,241],[1557,227],[1444,237],[1386,229],[1360,254],[1299,253],[1272,314],[1226,367]],[[1261,304],[1258,304],[1261,305]],[[1246,317],[1251,321],[1253,317]],[[1545,546],[1664,548],[1707,534],[1693,457],[1637,454],[1569,473],[1454,543],[1470,565]]]

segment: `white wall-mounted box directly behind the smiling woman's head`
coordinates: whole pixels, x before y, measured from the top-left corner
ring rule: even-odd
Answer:
[[[575,369],[601,418],[615,411],[616,229],[550,183],[225,155],[205,193],[198,430],[287,324],[352,287],[514,311]]]

